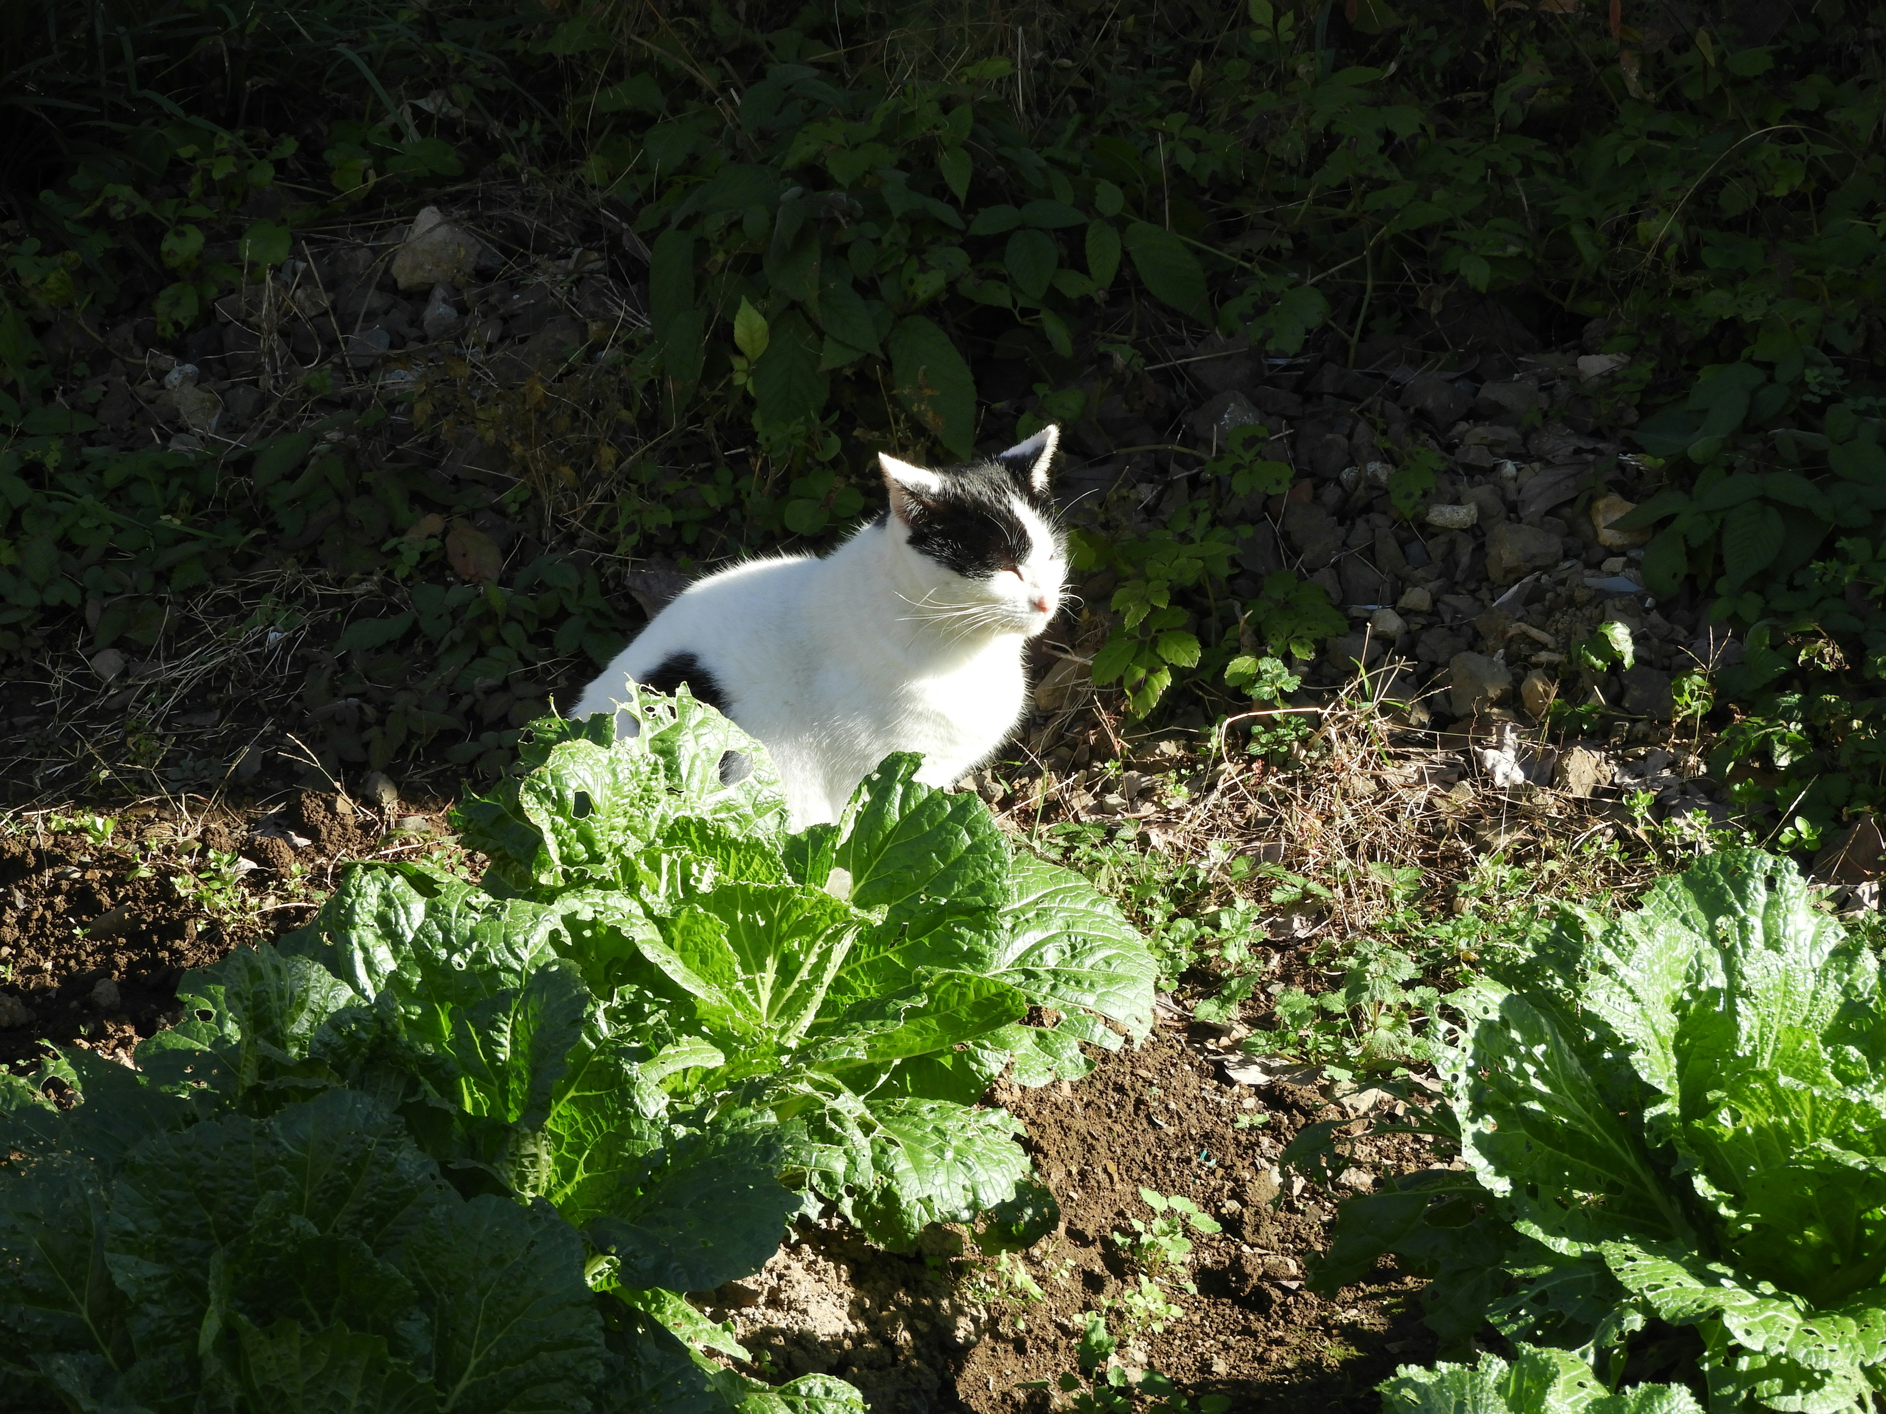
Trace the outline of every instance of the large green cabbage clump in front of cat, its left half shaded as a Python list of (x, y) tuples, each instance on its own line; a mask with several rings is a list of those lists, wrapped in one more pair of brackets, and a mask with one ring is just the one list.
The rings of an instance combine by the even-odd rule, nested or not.
[(975, 1101), (1145, 1035), (1118, 911), (915, 758), (788, 833), (713, 709), (628, 711), (619, 743), (538, 722), (528, 773), (462, 807), (481, 884), (356, 865), (309, 928), (189, 975), (136, 1071), (0, 1080), (23, 1408), (835, 1414), (839, 1380), (709, 1361), (745, 1352), (677, 1293), (758, 1271), (800, 1212), (896, 1248), (1052, 1225)]

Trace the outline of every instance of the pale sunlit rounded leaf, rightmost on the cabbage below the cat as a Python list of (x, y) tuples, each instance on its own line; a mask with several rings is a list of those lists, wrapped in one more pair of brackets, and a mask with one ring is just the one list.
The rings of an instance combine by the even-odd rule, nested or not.
[(1066, 1012), (1071, 1035), (1117, 1048), (1120, 1037), (1092, 1026), (1094, 1012), (1135, 1041), (1152, 1029), (1152, 986), (1158, 967), (1145, 939), (1081, 875), (1032, 854), (1009, 862), (1009, 897), (1001, 911), (1005, 937), (990, 975), (1011, 982), (1030, 1001)]

